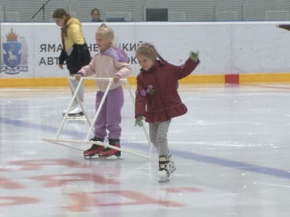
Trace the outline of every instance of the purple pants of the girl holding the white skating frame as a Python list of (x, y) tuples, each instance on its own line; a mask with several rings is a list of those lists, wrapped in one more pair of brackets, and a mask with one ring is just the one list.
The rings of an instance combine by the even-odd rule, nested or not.
[[(101, 103), (101, 99), (104, 96), (104, 92), (97, 92), (96, 96), (96, 110)], [(124, 92), (123, 87), (117, 87), (114, 90), (110, 90), (104, 101), (103, 106), (95, 122), (95, 136), (99, 138), (105, 138), (107, 136), (106, 130), (108, 130), (108, 137), (119, 139), (121, 137), (121, 121), (122, 121), (122, 107), (124, 104)]]

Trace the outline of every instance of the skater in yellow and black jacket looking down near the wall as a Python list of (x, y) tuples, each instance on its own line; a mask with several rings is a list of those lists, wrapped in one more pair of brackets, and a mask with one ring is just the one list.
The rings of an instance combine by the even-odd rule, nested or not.
[[(70, 17), (70, 14), (62, 8), (58, 8), (53, 12), (52, 18), (55, 23), (61, 27), (61, 42), (62, 50), (59, 56), (59, 68), (64, 69), (64, 62), (70, 71), (70, 76), (74, 76), (84, 65), (90, 63), (90, 52), (84, 34), (81, 29), (81, 22), (75, 17)], [(79, 81), (73, 81), (75, 88)], [(72, 90), (72, 94), (73, 94)], [(84, 87), (79, 90), (79, 99), (84, 101)], [(66, 110), (62, 113), (66, 114)], [(69, 116), (83, 115), (81, 107), (75, 100)]]

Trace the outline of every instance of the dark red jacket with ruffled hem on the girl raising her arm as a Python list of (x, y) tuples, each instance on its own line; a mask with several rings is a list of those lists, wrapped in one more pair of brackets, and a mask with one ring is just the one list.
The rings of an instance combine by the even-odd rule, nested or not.
[[(157, 60), (150, 70), (141, 69), (137, 76), (135, 117), (144, 115), (147, 122), (161, 122), (185, 114), (187, 108), (177, 92), (177, 81), (191, 74), (198, 63), (188, 59), (176, 66)], [(152, 95), (150, 87), (155, 90)]]

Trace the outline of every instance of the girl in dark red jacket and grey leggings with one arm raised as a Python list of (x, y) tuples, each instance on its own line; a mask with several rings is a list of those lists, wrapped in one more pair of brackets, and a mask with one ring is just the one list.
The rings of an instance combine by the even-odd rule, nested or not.
[(151, 143), (159, 154), (158, 176), (160, 182), (167, 181), (176, 169), (168, 150), (168, 127), (171, 118), (187, 112), (177, 92), (177, 82), (191, 74), (200, 60), (197, 53), (191, 52), (183, 65), (171, 65), (149, 43), (139, 45), (136, 57), (141, 72), (137, 76), (135, 125), (142, 126), (146, 118)]

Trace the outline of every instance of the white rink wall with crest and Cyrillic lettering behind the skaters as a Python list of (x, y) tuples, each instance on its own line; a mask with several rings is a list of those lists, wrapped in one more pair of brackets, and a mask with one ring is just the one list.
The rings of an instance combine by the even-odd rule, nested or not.
[[(281, 23), (281, 22), (280, 22)], [(283, 23), (283, 22), (282, 22)], [(84, 23), (91, 53), (97, 52), (95, 31), (101, 23)], [(116, 43), (131, 59), (138, 74), (137, 45), (153, 43), (167, 61), (180, 65), (190, 50), (200, 52), (195, 74), (290, 72), (290, 32), (277, 22), (108, 23)], [(57, 67), (60, 30), (55, 23), (0, 23), (1, 78), (64, 77)], [(11, 30), (17, 41), (9, 41)], [(17, 43), (16, 47), (13, 46)], [(8, 52), (10, 52), (8, 54)], [(15, 60), (17, 59), (17, 60)], [(11, 61), (15, 61), (12, 63)]]

